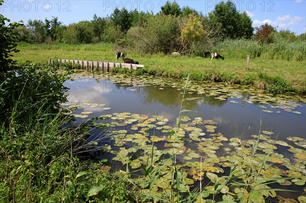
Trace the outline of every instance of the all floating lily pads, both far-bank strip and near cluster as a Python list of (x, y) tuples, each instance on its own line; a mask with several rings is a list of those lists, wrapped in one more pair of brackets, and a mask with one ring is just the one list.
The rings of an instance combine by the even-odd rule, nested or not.
[[(88, 72), (81, 74), (84, 75), (78, 73), (75, 77), (94, 77), (133, 86), (157, 85), (158, 88), (171, 86), (176, 89), (182, 89), (184, 86), (184, 81), (175, 80), (174, 82), (157, 77), (136, 78), (91, 72), (89, 73), (92, 74), (91, 76), (88, 75)], [(247, 86), (206, 82), (203, 84), (192, 82), (188, 91), (219, 100), (229, 100), (233, 105), (242, 102), (258, 103), (259, 107), (268, 113), (281, 112), (279, 109), (283, 109), (300, 114), (301, 112), (295, 111), (295, 108), (301, 106), (298, 102), (306, 101), (305, 97), (297, 95), (272, 96)], [(244, 94), (245, 92), (247, 94)], [(103, 104), (91, 104), (88, 101), (82, 104), (70, 102), (64, 105), (72, 108), (104, 106)], [(90, 113), (91, 111), (83, 111), (74, 116), (85, 118)], [(265, 197), (277, 197), (277, 195), (275, 191), (269, 190), (268, 184), (258, 183), (277, 180), (276, 183), (282, 186), (293, 184), (304, 186), (306, 182), (306, 140), (302, 137), (290, 136), (287, 138), (288, 142), (285, 142), (271, 139), (270, 136), (274, 132), (263, 131), (262, 134), (252, 135), (247, 140), (228, 139), (218, 132), (217, 122), (186, 115), (181, 117), (180, 127), (176, 127), (162, 115), (149, 117), (145, 114), (115, 112), (103, 114), (100, 117), (108, 118), (103, 122), (108, 124), (109, 131), (112, 132), (110, 136), (113, 147), (110, 152), (114, 156), (113, 160), (129, 166), (130, 172), (138, 173), (139, 177), (134, 179), (135, 184), (145, 190), (148, 190), (147, 187), (151, 185), (150, 193), (156, 198), (169, 194), (171, 185), (175, 182), (171, 157), (175, 157), (175, 168), (180, 171), (180, 181), (184, 183), (180, 185), (182, 187), (180, 191), (187, 192), (192, 190), (194, 185), (205, 182), (207, 186), (202, 189), (202, 198), (220, 192), (224, 199), (243, 196), (262, 202), (260, 200)], [(152, 177), (159, 177), (153, 182), (149, 176), (144, 176), (140, 172), (143, 168), (148, 167), (153, 168), (150, 170)], [(222, 185), (226, 181), (222, 176), (228, 175), (224, 172), (228, 169), (232, 171), (232, 176), (248, 185), (247, 190), (243, 187), (230, 187), (230, 184)], [(250, 171), (256, 175), (256, 180), (253, 175), (250, 175)], [(249, 193), (249, 189), (252, 189), (253, 192)], [(298, 199), (301, 202), (305, 200), (302, 196)]]

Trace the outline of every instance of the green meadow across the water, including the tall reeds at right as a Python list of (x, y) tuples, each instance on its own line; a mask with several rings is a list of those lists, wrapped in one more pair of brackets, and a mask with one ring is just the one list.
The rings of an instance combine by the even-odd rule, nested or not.
[[(137, 50), (123, 51), (144, 65), (144, 74), (186, 78), (189, 69), (194, 80), (220, 81), (254, 85), (271, 93), (294, 91), (306, 92), (306, 52), (304, 42), (288, 43), (286, 48), (276, 44), (259, 47), (245, 40), (222, 42), (211, 48), (225, 57), (222, 60), (204, 59), (197, 54), (172, 56), (143, 54)], [(120, 51), (113, 44), (24, 44), (17, 47), (18, 62), (32, 61), (45, 64), (48, 59), (115, 62), (115, 53)], [(283, 52), (281, 52), (283, 50)], [(246, 70), (246, 55), (250, 55), (249, 70)], [(287, 56), (290, 56), (289, 58)], [(118, 62), (122, 60), (119, 59)]]

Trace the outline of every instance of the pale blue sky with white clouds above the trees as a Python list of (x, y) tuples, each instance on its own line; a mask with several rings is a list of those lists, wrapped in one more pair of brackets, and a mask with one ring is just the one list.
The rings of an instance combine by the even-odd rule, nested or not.
[[(5, 0), (0, 6), (0, 13), (11, 21), (22, 20), (27, 24), (29, 19), (45, 18), (52, 19), (58, 17), (61, 22), (68, 25), (82, 20), (92, 20), (93, 14), (106, 17), (110, 15), (116, 7), (127, 10), (137, 9), (138, 11), (148, 11), (154, 14), (160, 11), (161, 6), (166, 1), (16, 1)], [(170, 1), (173, 2), (173, 1)], [(176, 2), (183, 8), (189, 6), (203, 14), (208, 14), (220, 1), (182, 1)], [(226, 1), (224, 1), (226, 2)], [(246, 11), (253, 20), (253, 26), (260, 26), (268, 22), (272, 26), (278, 26), (277, 30), (287, 30), (300, 35), (306, 31), (306, 0), (278, 0), (278, 1), (233, 1), (237, 10)]]

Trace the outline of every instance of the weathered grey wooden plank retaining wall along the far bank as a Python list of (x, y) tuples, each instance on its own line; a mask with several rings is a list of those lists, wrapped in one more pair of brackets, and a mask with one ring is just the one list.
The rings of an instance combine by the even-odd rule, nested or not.
[[(114, 62), (94, 62), (94, 61), (80, 61), (80, 60), (66, 60), (66, 59), (58, 59), (59, 62), (62, 63), (72, 63), (72, 67), (77, 64), (77, 67), (81, 67), (81, 69), (86, 70), (96, 70), (96, 71), (107, 71), (110, 72), (111, 68), (129, 68), (129, 69), (138, 69), (143, 68), (144, 65), (140, 64), (125, 64), (125, 63), (114, 63)], [(49, 64), (52, 64), (52, 59), (49, 59)]]

